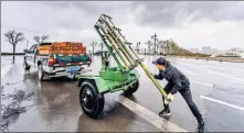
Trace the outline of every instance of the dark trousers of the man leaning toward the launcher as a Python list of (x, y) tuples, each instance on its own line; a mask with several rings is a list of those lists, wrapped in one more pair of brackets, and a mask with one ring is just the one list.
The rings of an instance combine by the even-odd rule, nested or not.
[[(190, 85), (189, 85), (190, 86)], [(198, 122), (203, 122), (203, 118), (202, 114), (200, 113), (198, 107), (195, 106), (193, 99), (192, 99), (192, 95), (191, 95), (191, 90), (190, 87), (183, 87), (182, 89), (179, 90), (180, 95), (183, 97), (183, 99), (185, 100), (185, 102), (188, 103), (191, 112), (193, 113), (193, 115), (197, 118)], [(168, 82), (165, 87), (165, 91), (166, 93), (169, 93), (172, 89), (173, 85)], [(162, 101), (163, 101), (163, 107), (165, 109), (169, 109), (169, 104), (165, 103), (165, 98), (162, 97)]]

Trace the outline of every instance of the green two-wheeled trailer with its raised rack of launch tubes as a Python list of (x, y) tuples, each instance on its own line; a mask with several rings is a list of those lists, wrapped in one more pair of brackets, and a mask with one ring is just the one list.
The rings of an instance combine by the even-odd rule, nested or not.
[[(142, 67), (158, 90), (167, 98), (160, 84), (147, 69), (144, 60), (132, 49), (116, 27), (112, 18), (102, 14), (94, 25), (99, 37), (106, 45), (108, 53), (102, 53), (102, 69), (98, 76), (83, 75), (79, 77), (79, 102), (84, 112), (92, 119), (96, 119), (104, 109), (104, 95), (123, 90), (125, 96), (131, 96), (139, 88), (139, 74), (135, 69), (138, 65)], [(117, 67), (109, 65), (109, 57), (117, 63)], [(167, 99), (170, 101), (170, 99)]]

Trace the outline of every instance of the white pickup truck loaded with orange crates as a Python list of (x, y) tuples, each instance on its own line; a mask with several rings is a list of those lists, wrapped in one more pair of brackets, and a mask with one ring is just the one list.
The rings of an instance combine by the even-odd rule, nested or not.
[[(91, 71), (92, 57), (86, 47), (78, 42), (54, 42), (34, 44), (24, 49), (24, 70), (38, 68), (38, 80), (67, 76), (75, 79), (77, 75)], [(85, 68), (86, 67), (86, 68)]]

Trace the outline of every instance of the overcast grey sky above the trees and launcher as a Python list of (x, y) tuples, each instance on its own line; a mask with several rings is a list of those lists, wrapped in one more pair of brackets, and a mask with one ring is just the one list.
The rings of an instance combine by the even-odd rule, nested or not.
[[(88, 46), (100, 41), (94, 24), (102, 13), (113, 18), (127, 40), (145, 43), (155, 33), (173, 38), (185, 48), (212, 46), (244, 48), (244, 2), (224, 1), (1, 1), (1, 52), (12, 52), (3, 33), (15, 29), (32, 36), (47, 34), (49, 41), (78, 41)], [(26, 42), (18, 44), (18, 52)]]

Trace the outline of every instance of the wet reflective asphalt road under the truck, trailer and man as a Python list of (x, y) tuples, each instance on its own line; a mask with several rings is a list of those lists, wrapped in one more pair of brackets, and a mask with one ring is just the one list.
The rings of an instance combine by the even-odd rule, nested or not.
[[(157, 57), (144, 58), (150, 71), (158, 73), (151, 65), (151, 60)], [(169, 59), (189, 77), (193, 99), (205, 119), (206, 131), (244, 131), (244, 110), (242, 110), (244, 64), (187, 58)], [(97, 74), (98, 66), (100, 66), (99, 57), (95, 57), (91, 74)], [(137, 69), (140, 73), (140, 87), (129, 99), (158, 114), (163, 108), (161, 96), (144, 70), (140, 67)], [(7, 85), (8, 82), (10, 85)], [(167, 84), (165, 80), (160, 82), (162, 86)], [(31, 108), (8, 126), (12, 132), (161, 132), (147, 120), (118, 103), (115, 98), (120, 97), (120, 91), (105, 95), (106, 104), (100, 120), (89, 119), (79, 106), (77, 80), (56, 78), (39, 82), (34, 70), (23, 74), (21, 62), (1, 78), (1, 86), (3, 86), (3, 93), (12, 93), (14, 88), (34, 92), (31, 100), (21, 103)], [(9, 102), (8, 99), (2, 100), (2, 104)], [(170, 122), (187, 131), (195, 131), (197, 121), (179, 93), (171, 103), (171, 111)]]

